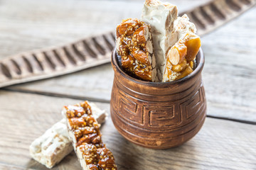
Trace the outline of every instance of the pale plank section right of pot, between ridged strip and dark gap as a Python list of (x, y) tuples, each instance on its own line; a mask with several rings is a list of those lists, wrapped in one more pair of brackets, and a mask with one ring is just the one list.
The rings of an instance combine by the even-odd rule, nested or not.
[[(203, 38), (208, 113), (255, 121), (256, 8)], [(246, 26), (248, 24), (248, 26)], [(239, 118), (240, 119), (240, 118)]]

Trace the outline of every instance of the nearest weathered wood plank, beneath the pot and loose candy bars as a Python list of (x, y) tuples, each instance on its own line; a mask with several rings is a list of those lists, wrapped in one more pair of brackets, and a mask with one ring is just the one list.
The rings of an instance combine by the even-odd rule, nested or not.
[[(80, 101), (70, 98), (0, 91), (0, 168), (46, 169), (28, 153), (36, 137), (60, 120), (61, 107)], [(109, 111), (108, 103), (97, 105)], [(110, 118), (102, 125), (103, 141), (122, 169), (255, 169), (255, 125), (206, 118), (201, 131), (181, 147), (146, 149), (119, 135)], [(54, 169), (80, 169), (75, 154)]]

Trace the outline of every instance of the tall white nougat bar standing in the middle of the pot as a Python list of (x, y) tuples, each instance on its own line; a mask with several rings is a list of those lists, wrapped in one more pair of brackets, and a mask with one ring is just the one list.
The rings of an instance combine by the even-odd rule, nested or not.
[(158, 81), (162, 79), (166, 52), (178, 40), (172, 33), (177, 16), (175, 5), (158, 0), (146, 0), (142, 8), (142, 21), (149, 23), (152, 30)]

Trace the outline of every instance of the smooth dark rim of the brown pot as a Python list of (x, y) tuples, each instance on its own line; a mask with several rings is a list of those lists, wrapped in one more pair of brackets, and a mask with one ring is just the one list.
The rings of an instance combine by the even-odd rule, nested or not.
[(181, 84), (184, 81), (188, 81), (189, 79), (192, 79), (193, 77), (196, 77), (196, 75), (200, 74), (200, 72), (203, 69), (205, 58), (203, 55), (203, 50), (200, 47), (198, 54), (196, 55), (196, 69), (191, 73), (188, 74), (186, 77), (183, 77), (181, 79), (175, 80), (175, 81), (168, 81), (168, 82), (151, 82), (151, 81), (143, 81), (140, 79), (136, 79), (134, 77), (129, 76), (126, 74), (122, 69), (119, 67), (119, 64), (117, 63), (117, 50), (116, 47), (114, 47), (114, 50), (112, 51), (112, 57), (111, 57), (112, 66), (117, 69), (117, 72), (122, 75), (125, 79), (128, 79), (129, 81), (133, 81), (136, 84), (141, 84), (145, 86), (168, 86), (168, 85), (175, 85), (175, 84)]

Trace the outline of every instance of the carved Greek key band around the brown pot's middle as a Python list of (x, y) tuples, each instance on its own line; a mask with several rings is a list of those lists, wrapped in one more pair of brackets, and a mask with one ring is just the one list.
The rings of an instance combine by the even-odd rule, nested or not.
[[(119, 91), (118, 114), (131, 123), (146, 125), (151, 128), (164, 128), (180, 125), (189, 120), (203, 108), (203, 86), (187, 101), (180, 103), (166, 102), (157, 105), (145, 105), (145, 101)], [(178, 114), (181, 112), (181, 114)]]

